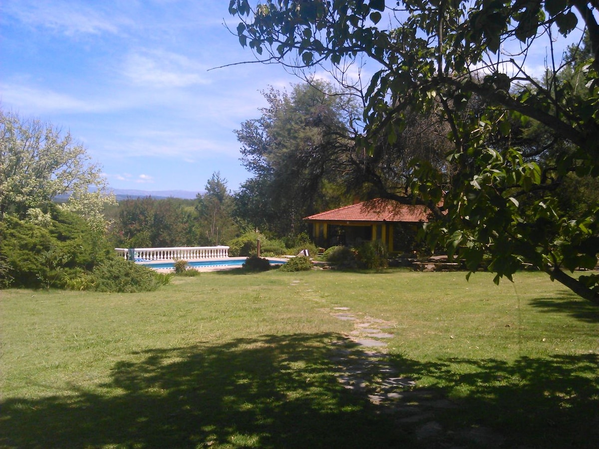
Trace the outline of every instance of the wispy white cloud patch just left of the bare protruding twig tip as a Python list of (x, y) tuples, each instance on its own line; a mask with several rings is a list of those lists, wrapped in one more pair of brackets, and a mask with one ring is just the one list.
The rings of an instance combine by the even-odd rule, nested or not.
[(141, 50), (125, 59), (123, 73), (131, 83), (150, 87), (187, 87), (208, 84), (206, 69), (186, 56), (159, 50)]

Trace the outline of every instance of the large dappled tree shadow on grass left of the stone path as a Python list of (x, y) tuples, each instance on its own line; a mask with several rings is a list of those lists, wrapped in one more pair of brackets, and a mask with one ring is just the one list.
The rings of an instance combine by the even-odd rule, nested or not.
[(389, 448), (392, 417), (337, 382), (332, 335), (129, 354), (107, 384), (0, 406), (0, 447)]

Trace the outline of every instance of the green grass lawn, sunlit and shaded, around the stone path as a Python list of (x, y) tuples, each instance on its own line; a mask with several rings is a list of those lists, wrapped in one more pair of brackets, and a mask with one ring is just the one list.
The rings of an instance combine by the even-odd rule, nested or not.
[[(544, 274), (491, 279), (232, 271), (152, 293), (0, 290), (0, 447), (488, 447), (461, 438), (476, 429), (504, 447), (599, 447), (599, 308)], [(335, 342), (369, 320), (390, 326), (379, 351), (397, 377), (451, 407), (410, 422), (337, 380)]]

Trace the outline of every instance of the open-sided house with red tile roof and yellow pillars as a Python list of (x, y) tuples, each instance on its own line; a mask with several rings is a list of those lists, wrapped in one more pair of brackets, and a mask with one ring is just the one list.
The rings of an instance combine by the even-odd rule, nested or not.
[(355, 245), (380, 240), (389, 253), (412, 251), (418, 229), (428, 222), (430, 211), (422, 205), (373, 199), (305, 217), (316, 245)]

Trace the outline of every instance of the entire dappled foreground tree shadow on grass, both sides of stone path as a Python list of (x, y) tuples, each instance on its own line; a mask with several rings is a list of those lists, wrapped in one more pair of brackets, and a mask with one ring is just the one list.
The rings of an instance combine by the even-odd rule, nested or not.
[(381, 413), (338, 383), (330, 342), (339, 338), (267, 335), (128, 354), (106, 384), (5, 399), (0, 447), (489, 447), (462, 438), (477, 426), (505, 435), (504, 447), (599, 441), (596, 354), (513, 363), (390, 356), (402, 374), (434, 378), (433, 389), (457, 405), (434, 409), (428, 420), (442, 423), (443, 433), (418, 441), (423, 423), (401, 424), (398, 412)]

